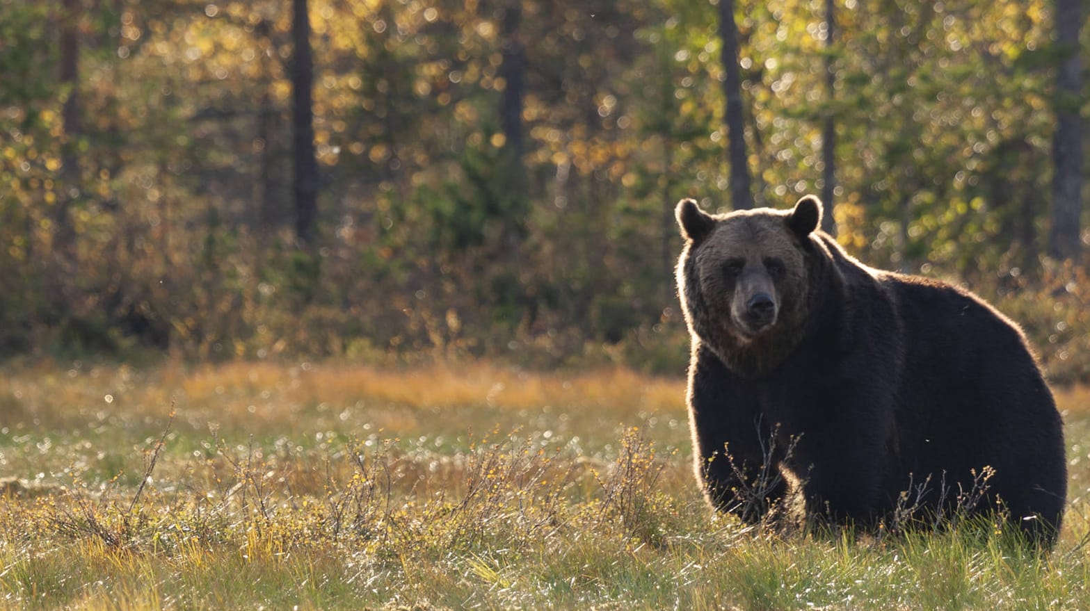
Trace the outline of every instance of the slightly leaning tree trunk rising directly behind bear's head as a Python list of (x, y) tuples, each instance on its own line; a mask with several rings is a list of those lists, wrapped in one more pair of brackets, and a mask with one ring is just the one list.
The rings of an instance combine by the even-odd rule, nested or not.
[(742, 118), (742, 82), (738, 66), (738, 26), (735, 24), (735, 0), (719, 0), (719, 36), (723, 48), (719, 59), (726, 71), (723, 93), (726, 96), (727, 150), (730, 162), (730, 205), (736, 210), (753, 207), (750, 174), (746, 155), (746, 129)]

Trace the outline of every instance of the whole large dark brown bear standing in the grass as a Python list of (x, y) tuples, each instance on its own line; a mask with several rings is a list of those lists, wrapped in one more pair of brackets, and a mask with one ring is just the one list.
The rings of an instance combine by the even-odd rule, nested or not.
[(998, 508), (1052, 543), (1063, 423), (1017, 326), (967, 291), (848, 256), (818, 230), (813, 196), (727, 215), (685, 199), (677, 220), (689, 416), (713, 505), (756, 522), (790, 493), (809, 518), (869, 528), (906, 505)]

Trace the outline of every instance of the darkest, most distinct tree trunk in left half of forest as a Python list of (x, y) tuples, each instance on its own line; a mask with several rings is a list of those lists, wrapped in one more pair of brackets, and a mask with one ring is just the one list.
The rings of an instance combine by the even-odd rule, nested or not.
[(317, 217), (318, 164), (314, 157), (314, 109), (312, 87), (314, 61), (311, 57), (311, 21), (306, 0), (292, 0), (291, 39), (294, 45), (291, 62), (292, 136), (294, 146), (295, 236), (300, 246), (308, 247), (314, 240)]

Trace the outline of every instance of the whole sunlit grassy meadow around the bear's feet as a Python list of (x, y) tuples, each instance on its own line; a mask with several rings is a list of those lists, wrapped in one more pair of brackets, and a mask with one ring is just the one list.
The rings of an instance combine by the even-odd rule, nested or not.
[(1087, 609), (1090, 390), (1056, 550), (713, 516), (683, 381), (487, 364), (9, 367), (0, 608)]

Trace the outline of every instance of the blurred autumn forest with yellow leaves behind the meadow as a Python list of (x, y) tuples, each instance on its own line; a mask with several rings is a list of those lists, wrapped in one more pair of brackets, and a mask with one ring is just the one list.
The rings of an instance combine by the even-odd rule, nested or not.
[(0, 353), (679, 372), (674, 204), (820, 193), (862, 260), (964, 279), (1055, 379), (1086, 378), (1086, 20), (1071, 0), (0, 0)]

